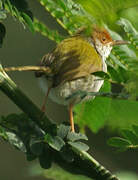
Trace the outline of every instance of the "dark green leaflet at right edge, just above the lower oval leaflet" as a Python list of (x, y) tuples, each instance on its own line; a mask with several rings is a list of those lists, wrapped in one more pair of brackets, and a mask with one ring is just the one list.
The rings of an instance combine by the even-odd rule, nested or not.
[(133, 145), (138, 144), (138, 137), (129, 129), (122, 129), (121, 134), (127, 140), (129, 140)]

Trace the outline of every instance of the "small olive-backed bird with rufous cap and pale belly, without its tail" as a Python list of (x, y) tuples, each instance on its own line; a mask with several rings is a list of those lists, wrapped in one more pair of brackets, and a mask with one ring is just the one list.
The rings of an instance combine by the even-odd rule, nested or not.
[(39, 66), (48, 67), (51, 70), (49, 74), (43, 71), (35, 72), (46, 92), (45, 101), (49, 97), (57, 104), (68, 107), (72, 132), (75, 132), (74, 105), (94, 98), (89, 95), (81, 98), (77, 92), (99, 92), (104, 80), (93, 73), (106, 73), (106, 59), (113, 46), (127, 44), (124, 40), (113, 40), (103, 27), (93, 27), (89, 35), (83, 32), (84, 30), (80, 30), (62, 40), (53, 51), (42, 57)]

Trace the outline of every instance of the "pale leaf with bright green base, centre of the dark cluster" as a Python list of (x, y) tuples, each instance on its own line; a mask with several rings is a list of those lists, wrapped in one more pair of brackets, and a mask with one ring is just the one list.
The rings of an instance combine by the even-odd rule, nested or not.
[(53, 149), (60, 151), (61, 148), (65, 145), (65, 142), (59, 136), (50, 136), (47, 134), (45, 136), (45, 141), (51, 146)]

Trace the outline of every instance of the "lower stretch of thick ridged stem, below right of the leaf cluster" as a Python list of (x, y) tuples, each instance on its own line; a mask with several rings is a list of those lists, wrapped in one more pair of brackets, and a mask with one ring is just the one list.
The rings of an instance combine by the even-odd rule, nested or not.
[(115, 175), (97, 162), (90, 154), (78, 149), (72, 149), (75, 153), (73, 162), (65, 163), (57, 156), (56, 163), (71, 173), (82, 174), (95, 180), (119, 180)]

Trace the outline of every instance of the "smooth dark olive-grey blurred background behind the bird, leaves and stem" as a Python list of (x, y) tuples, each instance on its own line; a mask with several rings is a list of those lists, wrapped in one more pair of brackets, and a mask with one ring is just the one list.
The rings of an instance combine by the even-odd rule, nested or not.
[[(58, 28), (62, 34), (66, 34), (37, 1), (30, 0), (29, 4), (36, 17), (46, 22), (49, 27), (54, 29)], [(125, 14), (128, 16), (128, 13)], [(130, 12), (130, 14), (132, 14), (132, 12)], [(44, 54), (55, 47), (54, 42), (38, 33), (32, 34), (29, 30), (24, 29), (23, 26), (12, 17), (8, 17), (4, 21), (4, 25), (6, 26), (7, 33), (3, 47), (0, 49), (0, 61), (4, 67), (36, 65)], [(24, 93), (29, 96), (37, 106), (41, 107), (44, 94), (34, 74), (31, 72), (12, 72), (9, 73), (9, 75)], [(21, 112), (2, 92), (0, 92), (0, 98), (1, 115)], [(64, 106), (54, 104), (48, 100), (46, 113), (50, 119), (55, 120), (53, 110), (56, 112), (58, 119), (67, 120), (67, 109)], [(87, 135), (93, 157), (106, 168), (110, 169), (112, 172), (133, 171), (138, 173), (136, 160), (138, 152), (136, 150), (134, 150), (134, 152), (129, 150), (123, 153), (116, 153), (115, 150), (106, 145), (106, 141), (109, 138), (107, 129), (100, 130), (98, 134), (92, 134), (87, 130)], [(0, 152), (1, 180), (44, 179), (43, 177), (30, 177), (28, 168), (35, 162), (27, 162), (25, 155), (9, 144), (0, 141)]]

